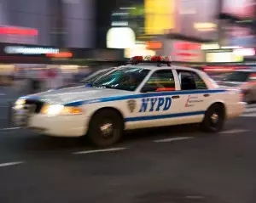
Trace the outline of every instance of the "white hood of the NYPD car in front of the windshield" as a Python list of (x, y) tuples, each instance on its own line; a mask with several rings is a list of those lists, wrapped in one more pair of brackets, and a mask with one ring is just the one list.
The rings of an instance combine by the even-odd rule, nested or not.
[(79, 86), (54, 89), (44, 93), (36, 93), (27, 96), (26, 99), (40, 99), (49, 103), (67, 104), (76, 101), (101, 99), (131, 94), (131, 92), (125, 90)]

